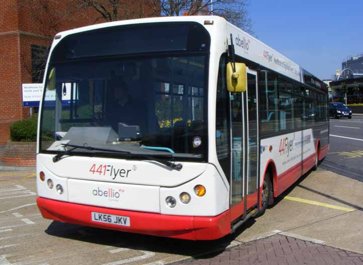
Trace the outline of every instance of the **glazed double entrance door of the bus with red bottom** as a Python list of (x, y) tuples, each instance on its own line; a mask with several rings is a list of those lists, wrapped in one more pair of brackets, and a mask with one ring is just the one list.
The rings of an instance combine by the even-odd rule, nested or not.
[(247, 68), (247, 90), (231, 93), (231, 220), (244, 217), (257, 204), (257, 75)]

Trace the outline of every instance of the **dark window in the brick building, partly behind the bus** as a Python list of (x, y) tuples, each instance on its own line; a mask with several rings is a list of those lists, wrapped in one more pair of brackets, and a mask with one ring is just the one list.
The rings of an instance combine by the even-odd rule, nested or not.
[(34, 45), (32, 49), (32, 82), (42, 83), (45, 65), (49, 54), (49, 47)]

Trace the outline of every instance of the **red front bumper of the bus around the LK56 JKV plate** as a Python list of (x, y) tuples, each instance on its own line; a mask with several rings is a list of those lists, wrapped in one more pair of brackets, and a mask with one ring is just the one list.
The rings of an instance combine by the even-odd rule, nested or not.
[[(98, 228), (189, 240), (213, 240), (230, 233), (230, 213), (214, 217), (134, 212), (37, 198), (47, 219)], [(130, 226), (92, 221), (92, 212), (130, 217)]]

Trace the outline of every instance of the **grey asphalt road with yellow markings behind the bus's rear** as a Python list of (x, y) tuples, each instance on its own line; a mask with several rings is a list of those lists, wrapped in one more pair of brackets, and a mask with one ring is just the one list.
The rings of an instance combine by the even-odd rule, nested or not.
[(363, 182), (363, 116), (330, 119), (329, 153), (321, 166)]

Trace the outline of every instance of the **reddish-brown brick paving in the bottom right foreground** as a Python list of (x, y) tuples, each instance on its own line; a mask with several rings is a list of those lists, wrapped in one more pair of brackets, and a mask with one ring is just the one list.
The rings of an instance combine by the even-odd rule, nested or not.
[[(361, 242), (357, 242), (361, 243)], [(208, 254), (173, 263), (186, 265), (363, 265), (363, 254), (274, 235), (231, 247), (222, 253)]]

